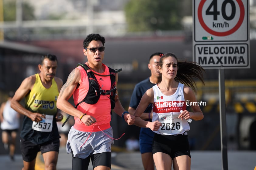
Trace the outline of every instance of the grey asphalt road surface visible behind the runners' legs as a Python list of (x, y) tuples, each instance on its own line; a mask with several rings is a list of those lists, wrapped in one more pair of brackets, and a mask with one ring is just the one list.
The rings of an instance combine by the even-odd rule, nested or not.
[[(220, 151), (191, 151), (191, 157), (191, 170), (223, 170)], [(8, 155), (0, 155), (0, 166), (0, 169), (21, 170), (22, 156), (15, 155), (15, 161), (11, 161)], [(228, 151), (229, 170), (254, 170), (255, 166), (256, 151)], [(57, 170), (71, 170), (71, 167), (71, 155), (66, 153), (65, 148), (60, 148)], [(40, 154), (36, 170), (44, 170)], [(88, 170), (93, 170), (91, 164)], [(143, 170), (140, 152), (112, 152), (112, 170)]]

